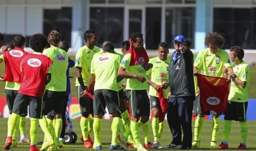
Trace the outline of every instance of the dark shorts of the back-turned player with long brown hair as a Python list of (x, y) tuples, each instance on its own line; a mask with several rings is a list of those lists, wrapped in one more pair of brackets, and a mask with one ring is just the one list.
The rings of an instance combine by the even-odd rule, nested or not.
[(66, 98), (66, 91), (45, 91), (43, 95), (43, 115), (47, 115), (53, 111), (53, 114), (62, 114), (64, 109), (64, 101)]

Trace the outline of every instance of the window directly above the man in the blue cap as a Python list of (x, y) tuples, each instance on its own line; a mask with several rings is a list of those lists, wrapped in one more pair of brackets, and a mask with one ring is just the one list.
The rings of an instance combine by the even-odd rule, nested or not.
[(172, 40), (177, 35), (183, 35), (194, 48), (195, 8), (166, 8), (165, 40), (173, 48)]

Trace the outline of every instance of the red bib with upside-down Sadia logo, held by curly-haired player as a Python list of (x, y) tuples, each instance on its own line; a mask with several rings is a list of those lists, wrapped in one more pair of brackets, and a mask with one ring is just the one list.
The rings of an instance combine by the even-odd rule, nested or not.
[(197, 74), (197, 80), (200, 89), (200, 104), (203, 112), (225, 112), (229, 94), (227, 79)]

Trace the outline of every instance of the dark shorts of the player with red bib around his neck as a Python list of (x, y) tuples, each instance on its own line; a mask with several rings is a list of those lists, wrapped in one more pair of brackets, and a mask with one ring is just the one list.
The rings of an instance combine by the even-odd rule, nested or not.
[(146, 90), (126, 90), (126, 97), (133, 117), (150, 115), (150, 101)]

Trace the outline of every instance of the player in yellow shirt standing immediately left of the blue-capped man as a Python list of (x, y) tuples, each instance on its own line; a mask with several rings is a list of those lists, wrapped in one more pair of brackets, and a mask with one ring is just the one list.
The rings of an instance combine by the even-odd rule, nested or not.
[[(149, 63), (152, 63), (153, 68), (149, 69), (146, 73), (148, 74), (148, 84), (149, 86), (149, 96), (150, 96), (150, 106), (151, 113), (153, 114), (152, 118), (152, 131), (154, 135), (154, 144), (153, 148), (162, 148), (159, 140), (161, 137), (162, 130), (164, 128), (164, 122), (159, 123), (159, 86), (163, 82), (168, 82), (168, 70), (167, 68), (170, 65), (170, 59), (167, 58), (169, 53), (168, 44), (165, 42), (159, 43), (157, 49), (158, 56), (153, 57), (149, 60)], [(168, 85), (164, 86), (163, 96), (167, 100), (168, 96)]]

